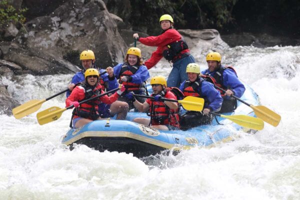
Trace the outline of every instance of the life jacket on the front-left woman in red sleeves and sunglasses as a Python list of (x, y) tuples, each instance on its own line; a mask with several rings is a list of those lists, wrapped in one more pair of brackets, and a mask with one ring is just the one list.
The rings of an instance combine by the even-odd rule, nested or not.
[[(84, 88), (84, 98), (82, 100), (86, 100), (93, 96), (101, 94), (102, 86), (100, 84), (96, 84), (96, 86), (94, 88), (92, 88), (91, 86), (89, 86), (85, 83), (81, 83), (79, 86)], [(100, 99), (96, 98), (96, 99), (81, 103), (79, 107), (77, 107), (73, 110), (72, 114), (74, 117), (80, 116), (83, 118), (95, 120), (99, 117), (98, 104), (100, 104), (100, 102), (101, 102)]]

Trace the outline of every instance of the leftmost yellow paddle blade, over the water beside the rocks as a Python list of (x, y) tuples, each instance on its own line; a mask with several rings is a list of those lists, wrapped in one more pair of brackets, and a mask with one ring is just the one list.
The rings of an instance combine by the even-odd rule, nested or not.
[(37, 111), (40, 106), (41, 103), (45, 102), (46, 99), (43, 100), (37, 100), (37, 99), (33, 99), (33, 100), (29, 100), (15, 108), (12, 109), (12, 114), (16, 119), (22, 118), (28, 114), (31, 114), (35, 111)]

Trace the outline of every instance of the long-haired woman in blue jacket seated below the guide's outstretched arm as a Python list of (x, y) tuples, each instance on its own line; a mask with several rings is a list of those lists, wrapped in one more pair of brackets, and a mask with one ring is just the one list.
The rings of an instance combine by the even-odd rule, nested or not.
[[(119, 79), (119, 84), (125, 86), (125, 91), (118, 98), (125, 101), (129, 105), (129, 110), (134, 108), (132, 103), (132, 95), (129, 92), (144, 95), (146, 92), (145, 81), (150, 77), (148, 69), (142, 64), (141, 51), (139, 48), (131, 47), (127, 50), (125, 62), (119, 63), (113, 67), (113, 78)], [(143, 98), (138, 98), (144, 102)]]

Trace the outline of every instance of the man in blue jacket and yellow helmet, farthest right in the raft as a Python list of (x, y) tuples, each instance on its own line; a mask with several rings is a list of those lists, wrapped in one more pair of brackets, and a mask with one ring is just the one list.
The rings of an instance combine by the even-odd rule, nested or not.
[(206, 61), (208, 68), (202, 71), (202, 77), (226, 90), (225, 93), (220, 91), (223, 103), (219, 112), (234, 111), (237, 107), (237, 101), (230, 96), (233, 94), (240, 98), (245, 91), (245, 86), (238, 79), (236, 71), (232, 66), (221, 65), (221, 55), (218, 52), (208, 53)]

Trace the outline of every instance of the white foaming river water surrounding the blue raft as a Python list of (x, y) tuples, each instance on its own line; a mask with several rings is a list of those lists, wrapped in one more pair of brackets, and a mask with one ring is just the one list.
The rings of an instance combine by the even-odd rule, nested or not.
[[(224, 49), (224, 64), (259, 95), (261, 104), (281, 115), (277, 127), (265, 123), (256, 134), (216, 147), (193, 148), (138, 159), (132, 154), (98, 152), (61, 144), (71, 110), (39, 125), (36, 113), (21, 119), (0, 114), (0, 200), (4, 199), (300, 199), (300, 46)], [(193, 52), (193, 54), (196, 54)], [(204, 69), (205, 56), (195, 56)], [(150, 75), (167, 75), (161, 62)], [(2, 77), (24, 103), (66, 88), (70, 75)], [(64, 107), (64, 96), (39, 111)], [(147, 163), (147, 164), (145, 164)]]

